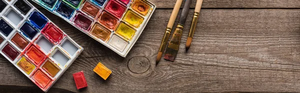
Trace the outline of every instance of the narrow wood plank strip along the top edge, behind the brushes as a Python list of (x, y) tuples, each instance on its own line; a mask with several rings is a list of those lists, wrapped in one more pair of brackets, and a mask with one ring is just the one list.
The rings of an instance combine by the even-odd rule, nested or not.
[[(173, 8), (176, 2), (176, 0), (149, 1), (154, 3), (157, 8)], [(300, 0), (203, 0), (202, 8), (300, 8), (298, 3)], [(196, 0), (192, 0), (190, 7), (194, 8), (195, 4)], [(37, 8), (41, 9), (42, 7), (37, 6)]]

